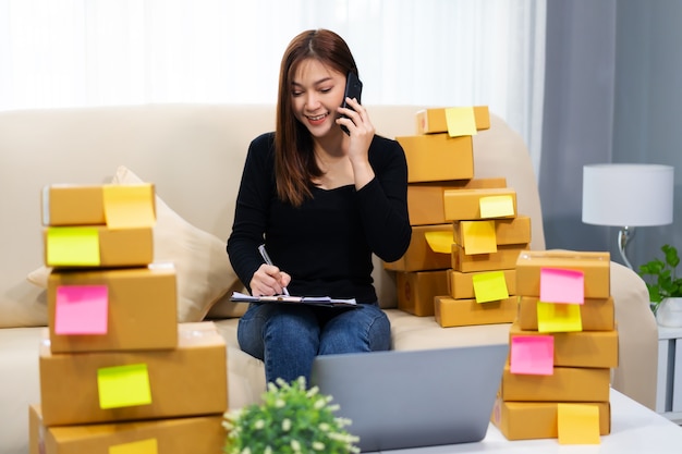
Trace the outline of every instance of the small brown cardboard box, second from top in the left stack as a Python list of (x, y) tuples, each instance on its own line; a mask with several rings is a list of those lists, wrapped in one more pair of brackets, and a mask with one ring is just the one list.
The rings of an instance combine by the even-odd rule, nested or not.
[[(71, 229), (73, 232), (97, 230), (99, 243), (99, 263), (76, 265), (71, 261), (50, 262), (48, 231), (50, 229)], [(93, 226), (52, 226), (45, 228), (42, 233), (45, 265), (54, 268), (113, 268), (144, 267), (154, 261), (153, 228), (109, 229), (106, 225)]]

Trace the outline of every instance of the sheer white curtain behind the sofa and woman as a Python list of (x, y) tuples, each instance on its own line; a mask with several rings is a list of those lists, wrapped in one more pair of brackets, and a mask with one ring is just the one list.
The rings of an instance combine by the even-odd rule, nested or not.
[(365, 103), (487, 105), (537, 170), (545, 3), (0, 0), (0, 110), (273, 103), (287, 44), (324, 27), (349, 42)]

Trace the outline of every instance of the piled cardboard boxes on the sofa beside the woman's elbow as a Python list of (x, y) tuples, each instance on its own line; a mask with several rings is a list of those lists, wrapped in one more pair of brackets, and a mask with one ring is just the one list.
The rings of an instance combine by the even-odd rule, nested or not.
[(490, 127), (487, 107), (426, 109), (417, 134), (397, 137), (407, 159), (413, 236), (397, 271), (398, 307), (441, 327), (511, 322), (516, 256), (531, 219), (516, 214), (504, 177), (475, 179), (473, 134)]

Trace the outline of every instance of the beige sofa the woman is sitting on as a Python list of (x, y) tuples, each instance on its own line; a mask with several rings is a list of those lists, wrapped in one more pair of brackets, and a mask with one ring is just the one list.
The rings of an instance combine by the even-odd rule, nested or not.
[[(380, 134), (414, 134), (418, 106), (368, 109)], [(0, 112), (0, 454), (27, 453), (28, 404), (40, 401), (38, 343), (47, 322), (40, 192), (48, 184), (155, 183), (155, 259), (176, 266), (180, 320), (202, 320), (212, 305), (208, 317), (228, 344), (230, 407), (258, 401), (265, 386), (263, 364), (236, 343), (234, 317), (243, 307), (220, 297), (240, 287), (224, 241), (245, 151), (252, 138), (272, 128), (273, 113), (272, 106), (210, 105)], [(474, 140), (475, 176), (507, 177), (517, 193), (519, 212), (532, 218), (532, 247), (543, 249), (527, 149), (499, 118), (491, 115), (491, 123)], [(393, 275), (379, 261), (375, 265), (394, 348), (507, 341), (507, 324), (443, 329), (433, 317), (395, 309)], [(620, 366), (612, 384), (654, 407), (657, 329), (646, 287), (635, 273), (612, 263), (611, 291), (620, 331)]]

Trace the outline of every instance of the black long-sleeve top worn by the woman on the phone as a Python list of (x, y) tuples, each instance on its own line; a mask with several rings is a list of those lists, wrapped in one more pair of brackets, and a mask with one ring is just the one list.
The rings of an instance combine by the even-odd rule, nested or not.
[(290, 294), (376, 302), (372, 254), (398, 260), (412, 235), (402, 147), (375, 136), (369, 183), (360, 191), (312, 186), (313, 198), (294, 207), (277, 197), (273, 138), (273, 133), (255, 138), (244, 164), (227, 247), (240, 280), (248, 289), (264, 262), (257, 247), (265, 241), (272, 262), (292, 277)]

